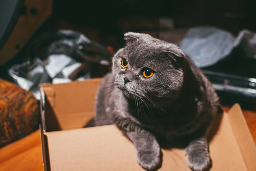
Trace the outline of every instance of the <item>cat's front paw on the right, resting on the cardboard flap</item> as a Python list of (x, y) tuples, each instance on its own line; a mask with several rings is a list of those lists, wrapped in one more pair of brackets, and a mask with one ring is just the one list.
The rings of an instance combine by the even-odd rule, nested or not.
[(206, 151), (194, 151), (186, 154), (189, 168), (193, 171), (204, 171), (210, 164), (209, 154)]

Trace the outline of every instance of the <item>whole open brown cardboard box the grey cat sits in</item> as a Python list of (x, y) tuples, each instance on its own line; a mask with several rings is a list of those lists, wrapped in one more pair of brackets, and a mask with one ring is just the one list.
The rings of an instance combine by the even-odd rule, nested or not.
[[(101, 81), (41, 85), (44, 171), (143, 171), (134, 145), (115, 125), (83, 128)], [(238, 104), (215, 118), (209, 150), (210, 171), (256, 171), (256, 147)], [(183, 149), (162, 151), (159, 171), (191, 171)]]

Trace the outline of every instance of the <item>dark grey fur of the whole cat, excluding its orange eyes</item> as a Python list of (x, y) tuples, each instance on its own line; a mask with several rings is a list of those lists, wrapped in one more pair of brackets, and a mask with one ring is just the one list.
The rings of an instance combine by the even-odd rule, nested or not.
[[(133, 32), (125, 40), (113, 57), (112, 72), (99, 86), (96, 126), (116, 124), (147, 170), (160, 164), (158, 138), (188, 136), (188, 165), (204, 170), (210, 162), (205, 136), (219, 105), (211, 83), (175, 44)], [(122, 58), (128, 60), (127, 68), (121, 66)], [(143, 67), (154, 75), (144, 78)]]

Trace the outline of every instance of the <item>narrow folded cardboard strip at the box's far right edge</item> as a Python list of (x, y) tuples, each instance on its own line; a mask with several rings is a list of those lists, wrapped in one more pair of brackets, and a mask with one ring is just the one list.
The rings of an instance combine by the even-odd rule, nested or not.
[(250, 130), (242, 115), (242, 110), (239, 104), (234, 104), (227, 112), (233, 134), (239, 146), (239, 150), (244, 159), (244, 163), (248, 171), (256, 170), (256, 145)]

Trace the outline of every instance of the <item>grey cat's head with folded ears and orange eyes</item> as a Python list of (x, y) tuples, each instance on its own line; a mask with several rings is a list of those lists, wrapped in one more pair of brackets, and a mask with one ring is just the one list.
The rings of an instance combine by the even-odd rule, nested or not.
[(148, 34), (125, 33), (113, 57), (115, 86), (128, 97), (172, 97), (183, 85), (184, 52)]

